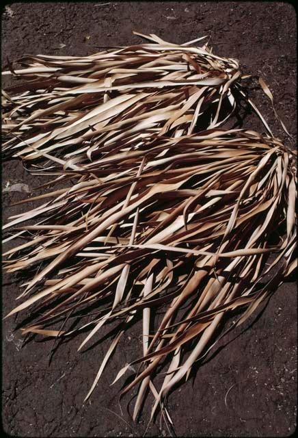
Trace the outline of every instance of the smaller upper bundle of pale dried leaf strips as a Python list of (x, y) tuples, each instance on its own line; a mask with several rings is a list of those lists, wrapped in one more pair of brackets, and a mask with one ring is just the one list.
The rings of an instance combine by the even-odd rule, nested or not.
[(25, 82), (3, 92), (3, 153), (76, 170), (152, 136), (215, 129), (245, 96), (236, 60), (207, 44), (189, 47), (202, 38), (178, 45), (143, 37), (150, 42), (10, 64), (3, 75)]

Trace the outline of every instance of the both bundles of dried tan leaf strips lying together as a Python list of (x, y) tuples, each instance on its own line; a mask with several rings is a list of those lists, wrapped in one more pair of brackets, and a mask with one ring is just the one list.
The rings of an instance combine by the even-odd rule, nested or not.
[(6, 240), (25, 239), (5, 269), (32, 276), (10, 315), (36, 315), (24, 335), (89, 331), (79, 348), (118, 322), (87, 397), (141, 315), (143, 351), (116, 377), (139, 363), (122, 391), (140, 383), (134, 417), (148, 390), (152, 415), (163, 406), (221, 322), (237, 310), (241, 324), (296, 266), (293, 153), (269, 134), (221, 127), (245, 98), (238, 63), (146, 38), (154, 44), (83, 58), (24, 57), (10, 73), (29, 80), (4, 92), (3, 114), (3, 151), (65, 182), (4, 227), (16, 229)]

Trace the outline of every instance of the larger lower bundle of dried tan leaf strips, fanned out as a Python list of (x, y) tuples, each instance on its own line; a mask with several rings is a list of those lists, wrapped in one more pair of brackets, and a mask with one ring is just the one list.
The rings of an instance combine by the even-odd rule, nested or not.
[[(63, 175), (76, 177), (74, 185), (37, 196), (49, 200), (5, 225), (17, 226), (8, 240), (27, 238), (5, 253), (5, 269), (35, 273), (9, 315), (36, 312), (24, 334), (89, 330), (79, 349), (120, 320), (86, 398), (140, 316), (143, 352), (116, 380), (139, 363), (122, 394), (140, 383), (133, 416), (147, 390), (153, 415), (215, 345), (223, 319), (241, 310), (234, 326), (241, 324), (295, 269), (295, 157), (271, 136), (212, 128), (124, 150), (117, 143), (88, 171), (69, 167)], [(35, 225), (23, 224), (31, 218)], [(165, 309), (159, 324), (157, 309)], [(70, 315), (79, 319), (75, 330)], [(153, 383), (167, 364), (163, 383)]]

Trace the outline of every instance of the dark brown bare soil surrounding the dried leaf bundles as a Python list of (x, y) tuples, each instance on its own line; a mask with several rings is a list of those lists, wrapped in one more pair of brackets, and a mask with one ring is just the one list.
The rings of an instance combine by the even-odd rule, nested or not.
[[(12, 3), (3, 12), (2, 29), (3, 62), (25, 53), (85, 55), (98, 51), (96, 46), (139, 42), (132, 35), (133, 30), (154, 33), (173, 42), (210, 35), (216, 53), (237, 58), (243, 70), (261, 75), (267, 81), (278, 112), (295, 138), (297, 34), (295, 10), (288, 3), (105, 0)], [(65, 47), (59, 49), (59, 44)], [(268, 99), (258, 91), (253, 93), (275, 135), (286, 140)], [(262, 129), (254, 116), (247, 118), (246, 126)], [(15, 161), (3, 165), (3, 185), (8, 180), (27, 183), (29, 188), (40, 183)], [(22, 205), (10, 205), (25, 196), (28, 195), (18, 192), (3, 194), (4, 221), (22, 211)], [(20, 292), (19, 283), (14, 280), (14, 276), (3, 278), (3, 315), (14, 307), (14, 298)], [(170, 396), (169, 409), (178, 436), (284, 437), (294, 432), (296, 300), (295, 283), (282, 285), (253, 326), (200, 368), (195, 379), (181, 385)], [(83, 398), (109, 344), (100, 343), (80, 354), (77, 352), (80, 339), (74, 338), (58, 348), (48, 365), (51, 342), (36, 339), (20, 349), (21, 335), (14, 331), (18, 321), (8, 318), (3, 322), (2, 418), (6, 433), (22, 437), (141, 436), (144, 433), (150, 404), (141, 422), (134, 424), (125, 408), (129, 397), (122, 402), (124, 416), (118, 416), (117, 394), (121, 384), (109, 386), (122, 365), (135, 357), (135, 346), (140, 343), (137, 330), (122, 342), (90, 402), (84, 405)], [(248, 326), (245, 324), (224, 342)], [(148, 428), (148, 435), (169, 433), (164, 423), (159, 428), (157, 422)]]

